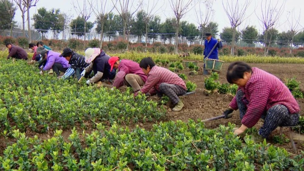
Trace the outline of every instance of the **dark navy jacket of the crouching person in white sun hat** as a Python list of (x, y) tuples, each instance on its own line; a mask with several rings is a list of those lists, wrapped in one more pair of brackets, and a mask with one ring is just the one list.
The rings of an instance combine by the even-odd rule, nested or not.
[(93, 72), (94, 74), (97, 74), (97, 71), (102, 72), (102, 78), (101, 79), (114, 79), (116, 75), (116, 69), (113, 69), (112, 72), (111, 66), (109, 64), (110, 56), (105, 54), (104, 51), (101, 51), (101, 53), (96, 56), (96, 58), (93, 60)]

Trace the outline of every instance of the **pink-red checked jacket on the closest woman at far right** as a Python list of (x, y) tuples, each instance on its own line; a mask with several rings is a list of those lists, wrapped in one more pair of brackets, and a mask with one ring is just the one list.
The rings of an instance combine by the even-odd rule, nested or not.
[[(253, 67), (245, 87), (239, 89), (244, 92), (244, 98), (249, 102), (241, 123), (249, 128), (257, 123), (263, 113), (277, 104), (286, 106), (290, 114), (300, 111), (299, 104), (285, 84), (264, 70)], [(236, 97), (229, 106), (234, 110), (238, 109)]]

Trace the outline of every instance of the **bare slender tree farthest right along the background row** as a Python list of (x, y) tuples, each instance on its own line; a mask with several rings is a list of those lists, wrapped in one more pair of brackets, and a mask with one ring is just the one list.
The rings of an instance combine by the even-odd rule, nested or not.
[(290, 49), (289, 53), (292, 53), (292, 44), (293, 44), (293, 38), (295, 35), (299, 32), (299, 24), (300, 24), (300, 16), (301, 16), (301, 10), (299, 13), (299, 17), (295, 16), (295, 10), (289, 11), (287, 14), (287, 21), (289, 26), (289, 31), (291, 33), (291, 42), (290, 42)]

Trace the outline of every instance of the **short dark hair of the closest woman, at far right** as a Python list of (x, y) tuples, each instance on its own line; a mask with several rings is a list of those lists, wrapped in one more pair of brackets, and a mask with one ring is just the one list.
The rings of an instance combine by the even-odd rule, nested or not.
[(244, 72), (252, 72), (247, 63), (241, 61), (231, 63), (227, 70), (227, 81), (233, 84), (234, 81), (244, 78)]

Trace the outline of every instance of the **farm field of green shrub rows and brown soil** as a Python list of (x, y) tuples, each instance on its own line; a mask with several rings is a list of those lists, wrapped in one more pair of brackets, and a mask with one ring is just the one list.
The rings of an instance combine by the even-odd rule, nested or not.
[[(304, 65), (296, 63), (250, 65), (283, 81), (296, 77), (304, 83)], [(228, 65), (224, 63), (219, 73), (220, 83), (226, 83)], [(165, 67), (169, 68), (169, 64)], [(185, 74), (187, 81), (197, 85), (197, 101), (190, 95), (192, 104), (186, 97), (183, 110), (173, 112), (169, 104), (159, 106), (143, 96), (134, 100), (132, 91), (126, 87), (120, 94), (119, 90), (87, 87), (85, 80), (78, 84), (76, 80), (57, 80), (53, 75), (40, 76), (25, 61), (1, 57), (0, 167), (4, 170), (303, 169), (304, 159), (300, 155), (304, 155), (301, 152), (304, 142), (295, 140), (298, 151), (294, 154), (288, 142), (273, 141), (279, 135), (278, 129), (267, 143), (279, 148), (234, 137), (232, 128), (240, 123), (238, 112), (227, 120), (205, 124), (198, 121), (222, 115), (232, 95), (206, 94), (202, 63), (198, 75), (189, 73), (189, 69), (184, 69), (177, 74)], [(300, 84), (300, 89), (303, 88), (304, 84)], [(304, 99), (297, 101), (303, 109)], [(303, 111), (300, 115), (304, 115)], [(283, 133), (287, 135), (288, 131)]]

